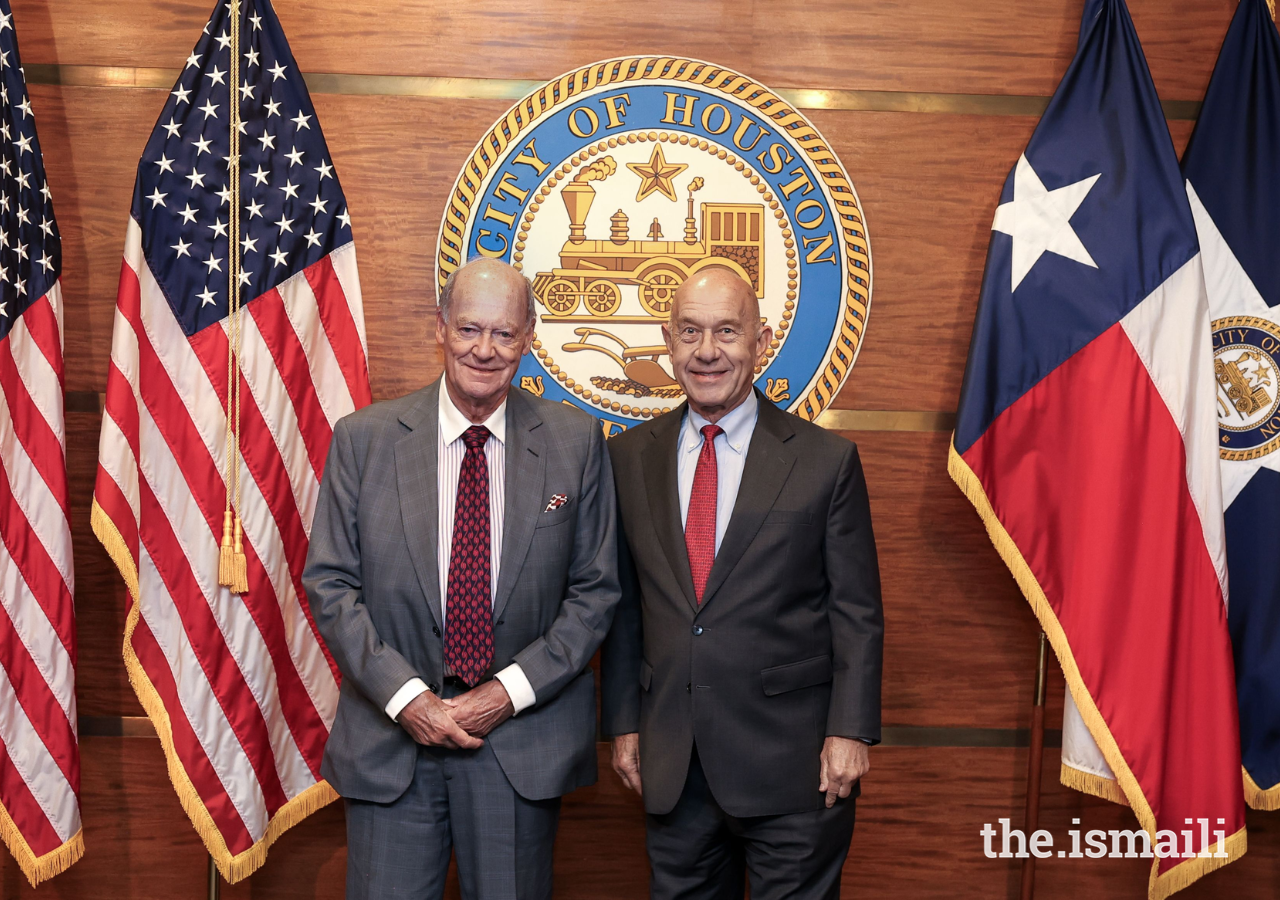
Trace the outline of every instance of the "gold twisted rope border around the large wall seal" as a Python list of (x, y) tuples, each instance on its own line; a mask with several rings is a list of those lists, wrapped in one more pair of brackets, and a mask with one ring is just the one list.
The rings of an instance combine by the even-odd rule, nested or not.
[[(835, 398), (849, 376), (861, 335), (867, 326), (870, 306), (872, 260), (867, 239), (867, 225), (854, 186), (818, 129), (800, 115), (781, 96), (744, 74), (719, 65), (676, 56), (627, 56), (585, 65), (549, 81), (538, 91), (512, 106), (493, 129), (476, 145), (471, 159), (453, 184), (449, 206), (440, 223), (440, 247), (436, 255), (436, 289), (462, 265), (462, 229), (490, 169), (517, 141), (521, 132), (541, 117), (554, 111), (573, 97), (609, 84), (636, 81), (676, 81), (719, 91), (739, 102), (755, 109), (771, 120), (780, 133), (804, 150), (813, 168), (822, 177), (831, 195), (832, 214), (844, 232), (846, 275), (845, 303), (840, 333), (836, 335), (831, 356), (817, 370), (817, 383), (794, 405), (794, 412), (813, 421)], [(858, 274), (858, 273), (861, 274)]]

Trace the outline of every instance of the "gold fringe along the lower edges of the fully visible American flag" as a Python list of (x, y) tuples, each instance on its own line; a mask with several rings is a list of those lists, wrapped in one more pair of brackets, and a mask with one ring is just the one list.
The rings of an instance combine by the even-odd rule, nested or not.
[[(124, 579), (124, 584), (129, 589), (129, 595), (133, 598), (133, 606), (129, 607), (129, 615), (124, 622), (123, 647), (124, 668), (128, 672), (129, 684), (133, 686), (133, 693), (137, 694), (138, 702), (142, 704), (142, 709), (147, 713), (147, 718), (151, 719), (151, 725), (156, 730), (156, 736), (160, 739), (160, 746), (164, 748), (165, 763), (169, 769), (169, 781), (173, 782), (173, 790), (178, 795), (178, 803), (182, 804), (183, 812), (186, 812), (187, 818), (191, 819), (191, 824), (196, 828), (196, 833), (200, 835), (200, 840), (204, 841), (205, 848), (209, 850), (209, 855), (212, 856), (214, 864), (218, 867), (218, 871), (221, 872), (223, 878), (234, 885), (236, 882), (243, 881), (253, 874), (253, 872), (256, 872), (262, 863), (266, 862), (266, 851), (280, 835), (296, 826), (311, 813), (317, 809), (323, 809), (337, 800), (338, 792), (329, 786), (328, 781), (317, 781), (311, 785), (311, 787), (306, 789), (275, 810), (275, 816), (271, 817), (271, 821), (266, 826), (266, 833), (264, 833), (262, 837), (253, 844), (253, 846), (232, 855), (230, 850), (227, 849), (227, 841), (223, 840), (221, 832), (214, 823), (214, 817), (210, 816), (209, 809), (205, 807), (205, 801), (200, 799), (200, 792), (191, 782), (191, 777), (187, 775), (187, 771), (182, 767), (182, 760), (178, 758), (178, 753), (173, 745), (173, 725), (169, 721), (169, 713), (164, 708), (164, 702), (156, 693), (155, 686), (151, 684), (151, 679), (147, 677), (141, 661), (133, 652), (133, 630), (137, 627), (138, 616), (142, 612), (138, 602), (138, 571), (134, 566), (133, 556), (129, 553), (129, 548), (125, 545), (124, 539), (115, 527), (115, 524), (111, 521), (110, 516), (106, 515), (102, 507), (97, 504), (97, 501), (93, 501), (93, 510), (90, 513), (90, 521), (93, 526), (93, 534), (101, 542), (102, 547), (106, 548), (106, 552), (111, 557), (116, 568), (120, 570), (120, 577)], [(0, 828), (3, 828), (3, 823), (0, 823)], [(6, 832), (0, 831), (0, 835), (4, 835), (8, 840)], [(81, 851), (83, 851), (83, 849)], [(14, 855), (17, 855), (17, 853)], [(73, 862), (76, 860), (72, 859), (67, 862), (65, 865), (70, 865)], [(65, 868), (65, 865), (63, 868)], [(26, 868), (23, 871), (26, 871)], [(28, 878), (29, 877), (31, 876), (28, 874)]]

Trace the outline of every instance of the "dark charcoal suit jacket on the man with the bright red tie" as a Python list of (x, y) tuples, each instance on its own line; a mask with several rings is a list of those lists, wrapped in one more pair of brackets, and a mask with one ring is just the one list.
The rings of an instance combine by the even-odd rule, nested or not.
[(603, 725), (640, 732), (650, 813), (676, 805), (695, 740), (731, 816), (820, 808), (827, 735), (879, 740), (883, 618), (858, 448), (758, 399), (701, 606), (676, 481), (686, 407), (608, 444), (625, 540)]

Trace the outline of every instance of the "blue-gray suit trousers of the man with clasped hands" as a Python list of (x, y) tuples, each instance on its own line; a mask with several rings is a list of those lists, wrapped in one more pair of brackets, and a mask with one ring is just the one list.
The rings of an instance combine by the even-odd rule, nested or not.
[(488, 741), (420, 746), (404, 794), (346, 807), (347, 900), (439, 900), (451, 850), (463, 900), (550, 900), (559, 798), (520, 796)]

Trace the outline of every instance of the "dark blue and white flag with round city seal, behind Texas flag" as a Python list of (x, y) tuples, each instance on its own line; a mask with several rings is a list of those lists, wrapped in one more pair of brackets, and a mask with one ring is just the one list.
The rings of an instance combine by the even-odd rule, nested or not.
[(1280, 35), (1243, 0), (1183, 154), (1213, 324), (1245, 799), (1280, 809)]

